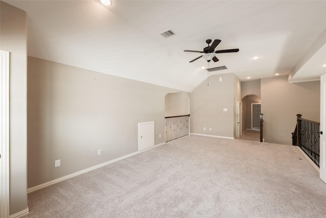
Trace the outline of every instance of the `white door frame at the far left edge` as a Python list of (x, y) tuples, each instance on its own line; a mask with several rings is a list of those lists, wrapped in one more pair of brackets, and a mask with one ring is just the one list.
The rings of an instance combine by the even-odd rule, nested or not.
[(0, 149), (0, 216), (9, 217), (9, 69), (10, 53), (0, 50), (1, 123)]

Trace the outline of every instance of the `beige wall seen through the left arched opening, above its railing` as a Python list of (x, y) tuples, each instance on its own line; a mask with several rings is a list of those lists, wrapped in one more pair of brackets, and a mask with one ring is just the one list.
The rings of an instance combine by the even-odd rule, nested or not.
[(165, 116), (179, 116), (190, 113), (190, 93), (172, 92), (165, 96)]

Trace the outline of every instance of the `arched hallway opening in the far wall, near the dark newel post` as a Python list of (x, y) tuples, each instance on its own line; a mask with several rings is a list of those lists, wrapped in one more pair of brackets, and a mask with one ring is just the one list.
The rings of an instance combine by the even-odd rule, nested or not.
[(261, 99), (255, 94), (248, 94), (241, 100), (242, 103), (242, 136), (241, 139), (260, 141)]

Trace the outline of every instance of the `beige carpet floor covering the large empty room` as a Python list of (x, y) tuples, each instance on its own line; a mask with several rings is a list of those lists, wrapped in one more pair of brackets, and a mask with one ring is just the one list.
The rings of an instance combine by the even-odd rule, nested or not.
[(326, 217), (293, 146), (189, 135), (29, 193), (24, 217)]

